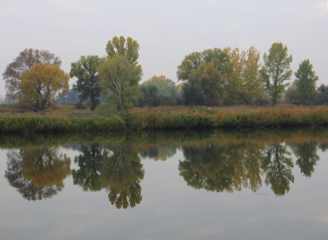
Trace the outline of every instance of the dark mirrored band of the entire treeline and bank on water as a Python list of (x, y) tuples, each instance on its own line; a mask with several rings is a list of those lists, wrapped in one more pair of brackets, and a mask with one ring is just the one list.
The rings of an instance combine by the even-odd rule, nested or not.
[[(318, 149), (328, 146), (328, 129), (164, 131), (113, 135), (51, 135), (38, 147), (23, 147), (32, 140), (0, 136), (0, 146), (18, 147), (8, 151), (5, 177), (24, 198), (51, 198), (64, 187), (72, 173), (73, 184), (84, 191), (108, 191), (116, 208), (135, 207), (142, 201), (141, 180), (145, 171), (141, 159), (165, 161), (181, 151), (179, 175), (188, 186), (216, 192), (249, 188), (257, 192), (262, 184), (276, 195), (289, 192), (294, 183), (293, 168), (310, 178), (319, 161)], [(40, 139), (40, 138), (37, 138)], [(19, 143), (19, 146), (15, 146)], [(77, 169), (59, 149), (74, 143)], [(10, 146), (10, 147), (8, 147)], [(75, 147), (76, 148), (76, 147)], [(295, 158), (294, 158), (295, 156)]]

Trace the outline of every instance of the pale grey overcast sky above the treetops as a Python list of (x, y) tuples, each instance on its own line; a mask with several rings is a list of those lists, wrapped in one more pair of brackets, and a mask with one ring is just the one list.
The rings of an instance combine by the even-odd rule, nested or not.
[[(177, 66), (193, 51), (253, 45), (263, 56), (282, 42), (293, 71), (309, 58), (317, 84), (328, 84), (326, 0), (10, 0), (0, 6), (0, 32), (1, 73), (26, 48), (50, 50), (69, 72), (81, 55), (104, 56), (108, 40), (123, 35), (140, 45), (142, 81), (153, 75), (176, 81)], [(1, 76), (3, 96), (4, 86)]]

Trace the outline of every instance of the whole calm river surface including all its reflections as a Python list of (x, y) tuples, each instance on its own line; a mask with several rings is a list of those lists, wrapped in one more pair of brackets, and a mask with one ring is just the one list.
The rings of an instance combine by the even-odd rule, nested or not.
[(0, 239), (328, 239), (328, 128), (0, 136)]

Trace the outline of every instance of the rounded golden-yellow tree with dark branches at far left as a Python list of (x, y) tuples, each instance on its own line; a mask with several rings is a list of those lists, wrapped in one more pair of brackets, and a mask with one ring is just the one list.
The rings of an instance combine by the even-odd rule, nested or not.
[(18, 95), (20, 105), (27, 105), (34, 110), (42, 110), (51, 105), (58, 94), (69, 91), (70, 76), (58, 65), (37, 63), (31, 70), (20, 75), (22, 92)]

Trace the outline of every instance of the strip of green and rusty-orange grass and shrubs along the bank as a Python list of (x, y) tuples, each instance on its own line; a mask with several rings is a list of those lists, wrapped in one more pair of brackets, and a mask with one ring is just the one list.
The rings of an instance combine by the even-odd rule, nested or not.
[(67, 106), (42, 112), (0, 106), (1, 133), (165, 130), (202, 128), (276, 128), (328, 125), (328, 106), (255, 107), (176, 106), (134, 108), (127, 112), (74, 110)]

